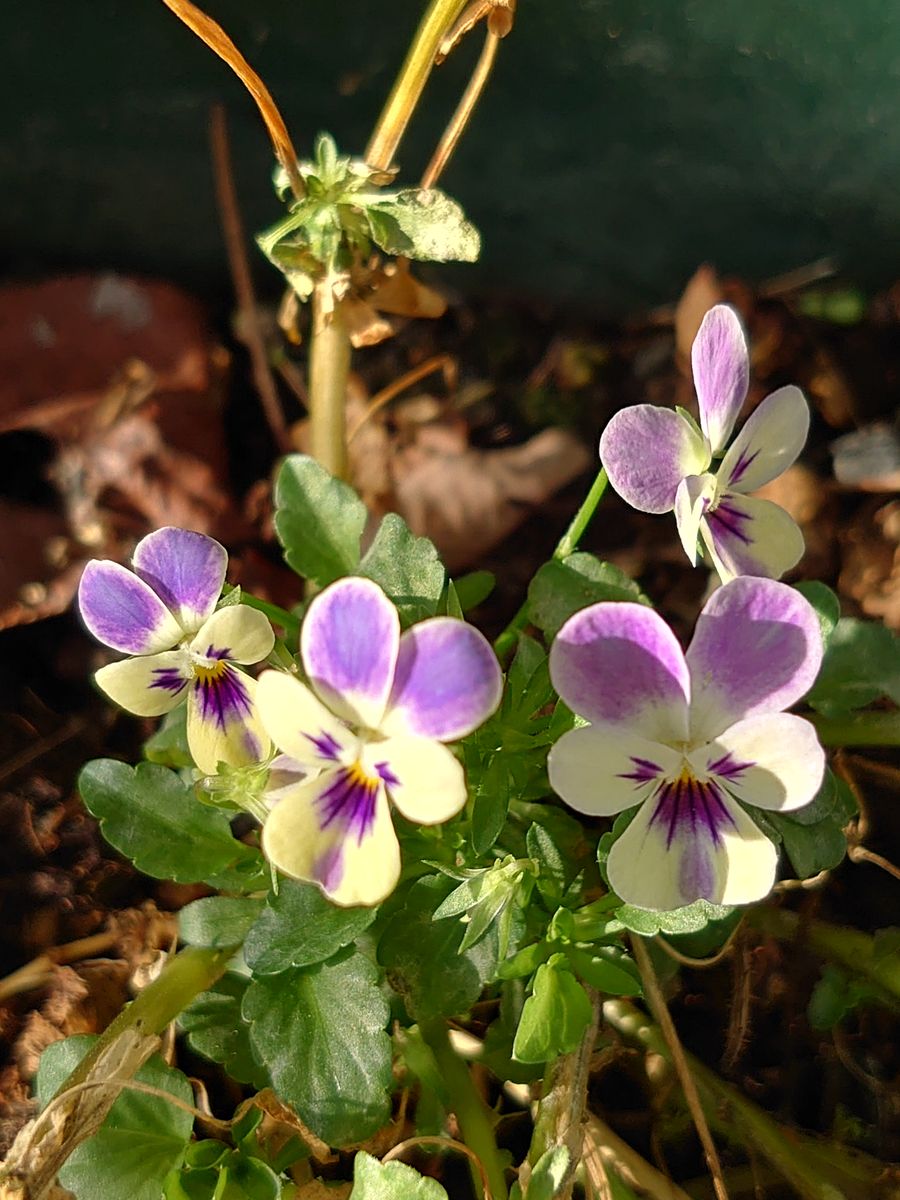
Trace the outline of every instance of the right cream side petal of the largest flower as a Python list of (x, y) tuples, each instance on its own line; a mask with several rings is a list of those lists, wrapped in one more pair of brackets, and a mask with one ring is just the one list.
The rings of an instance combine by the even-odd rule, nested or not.
[(691, 758), (739, 800), (775, 812), (809, 804), (826, 768), (815, 728), (790, 713), (738, 721)]

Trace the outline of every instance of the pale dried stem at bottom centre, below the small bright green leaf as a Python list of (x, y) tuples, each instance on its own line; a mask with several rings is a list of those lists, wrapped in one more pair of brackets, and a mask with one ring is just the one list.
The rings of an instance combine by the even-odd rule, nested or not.
[[(560, 1055), (547, 1067), (544, 1080), (544, 1094), (538, 1105), (538, 1117), (534, 1123), (532, 1145), (528, 1150), (528, 1166), (520, 1172), (520, 1182), (530, 1174), (530, 1168), (548, 1150), (564, 1146), (569, 1159), (563, 1178), (557, 1184), (554, 1200), (570, 1200), (575, 1184), (575, 1171), (581, 1162), (584, 1145), (584, 1105), (588, 1094), (588, 1074), (590, 1056), (596, 1044), (596, 1030), (600, 1024), (600, 996), (593, 988), (590, 996), (592, 1019), (581, 1044), (571, 1054)], [(522, 1188), (528, 1200), (528, 1186)]]

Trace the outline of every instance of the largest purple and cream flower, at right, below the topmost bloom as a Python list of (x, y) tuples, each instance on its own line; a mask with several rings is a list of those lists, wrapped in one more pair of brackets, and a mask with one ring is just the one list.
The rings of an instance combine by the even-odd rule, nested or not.
[(551, 679), (589, 724), (551, 749), (550, 782), (592, 816), (640, 805), (607, 863), (623, 900), (671, 911), (772, 889), (775, 846), (742, 804), (790, 812), (818, 791), (816, 732), (784, 709), (821, 661), (812, 607), (772, 580), (714, 592), (686, 654), (642, 605), (592, 605), (563, 625)]

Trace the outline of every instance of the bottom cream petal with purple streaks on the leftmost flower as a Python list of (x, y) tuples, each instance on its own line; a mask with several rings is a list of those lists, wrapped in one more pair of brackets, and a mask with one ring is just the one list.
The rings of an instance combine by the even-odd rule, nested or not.
[(256, 688), (256, 679), (228, 662), (194, 679), (187, 696), (187, 748), (205, 775), (215, 775), (220, 762), (246, 767), (269, 754)]

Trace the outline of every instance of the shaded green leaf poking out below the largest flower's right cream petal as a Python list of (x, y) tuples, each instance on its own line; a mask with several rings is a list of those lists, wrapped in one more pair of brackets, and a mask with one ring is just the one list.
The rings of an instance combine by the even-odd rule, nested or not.
[(836, 866), (847, 852), (846, 824), (856, 816), (857, 804), (850, 787), (827, 770), (818, 794), (793, 812), (761, 812), (752, 817), (773, 841), (784, 845), (800, 880)]

